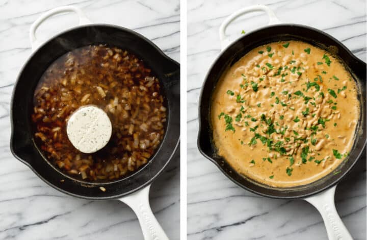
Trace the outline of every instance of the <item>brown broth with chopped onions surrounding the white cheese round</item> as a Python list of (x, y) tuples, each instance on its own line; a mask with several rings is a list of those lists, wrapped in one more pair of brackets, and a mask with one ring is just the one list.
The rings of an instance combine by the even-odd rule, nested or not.
[[(159, 80), (141, 60), (115, 47), (86, 46), (63, 55), (41, 77), (33, 101), (38, 147), (66, 174), (85, 180), (108, 181), (136, 171), (165, 131)], [(106, 147), (84, 154), (69, 141), (66, 123), (89, 104), (109, 115), (113, 129)]]

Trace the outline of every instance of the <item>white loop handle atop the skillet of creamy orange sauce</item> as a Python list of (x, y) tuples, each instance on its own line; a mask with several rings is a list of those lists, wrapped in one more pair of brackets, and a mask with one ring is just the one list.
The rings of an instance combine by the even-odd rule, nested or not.
[(219, 37), (220, 37), (220, 41), (221, 41), (222, 50), (225, 49), (231, 43), (231, 41), (229, 40), (228, 36), (225, 33), (229, 23), (231, 23), (233, 20), (235, 20), (239, 16), (242, 16), (246, 13), (258, 12), (258, 11), (266, 12), (268, 14), (268, 16), (269, 16), (269, 23), (268, 24), (269, 25), (281, 23), (281, 21), (276, 17), (275, 13), (270, 8), (268, 8), (267, 6), (256, 5), (256, 6), (251, 6), (251, 7), (248, 7), (248, 8), (242, 8), (242, 9), (232, 13), (230, 16), (228, 16), (223, 21), (222, 25), (219, 28)]

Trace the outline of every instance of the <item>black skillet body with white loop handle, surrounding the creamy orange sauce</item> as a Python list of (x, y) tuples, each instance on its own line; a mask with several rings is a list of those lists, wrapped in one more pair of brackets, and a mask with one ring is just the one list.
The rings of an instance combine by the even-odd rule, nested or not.
[[(225, 28), (227, 25), (238, 16), (252, 11), (265, 11), (270, 17), (270, 24), (280, 23), (275, 17), (274, 13), (266, 6), (254, 6), (239, 10), (229, 16), (222, 24), (220, 34), (222, 41), (222, 49), (229, 43), (225, 38)], [(216, 84), (228, 66), (231, 66), (243, 57), (247, 52), (259, 45), (264, 45), (278, 40), (301, 40), (312, 45), (317, 45), (322, 49), (332, 51), (333, 55), (341, 59), (347, 69), (352, 73), (354, 80), (358, 85), (358, 98), (360, 102), (360, 118), (357, 125), (355, 135), (355, 142), (348, 159), (331, 174), (324, 178), (299, 187), (290, 188), (275, 188), (269, 187), (265, 184), (255, 182), (249, 178), (236, 172), (232, 167), (216, 153), (216, 148), (212, 142), (212, 129), (210, 123), (209, 109), (211, 107), (212, 93)], [(224, 44), (224, 45), (223, 45)], [(332, 36), (320, 30), (310, 28), (302, 25), (294, 24), (276, 24), (268, 27), (260, 28), (250, 33), (246, 33), (240, 39), (231, 43), (213, 63), (209, 69), (208, 74), (204, 80), (201, 88), (199, 100), (199, 134), (198, 134), (198, 148), (201, 154), (207, 159), (216, 164), (219, 169), (234, 183), (251, 191), (252, 193), (278, 199), (303, 199), (309, 196), (314, 196), (325, 189), (335, 186), (341, 179), (347, 175), (354, 164), (359, 159), (366, 143), (366, 123), (365, 123), (365, 109), (366, 109), (366, 64), (356, 58), (346, 46), (340, 43)], [(339, 174), (335, 172), (341, 171)], [(333, 188), (332, 197), (333, 197)], [(305, 199), (309, 200), (309, 199)], [(329, 233), (329, 231), (328, 231)], [(330, 237), (330, 235), (329, 235)]]

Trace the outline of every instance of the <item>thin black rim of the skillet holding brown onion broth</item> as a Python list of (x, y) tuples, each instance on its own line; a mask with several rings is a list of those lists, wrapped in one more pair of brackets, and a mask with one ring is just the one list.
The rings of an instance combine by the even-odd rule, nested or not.
[[(12, 95), (11, 95), (11, 101), (10, 101), (10, 125), (11, 125), (11, 133), (10, 133), (9, 145), (10, 145), (10, 152), (12, 153), (12, 155), (17, 160), (19, 160), (20, 162), (22, 162), (25, 165), (27, 165), (37, 175), (37, 177), (39, 177), (40, 179), (42, 179), (42, 181), (44, 181), (45, 183), (47, 183), (49, 186), (51, 186), (51, 187), (59, 190), (61, 193), (64, 193), (64, 194), (69, 195), (69, 196), (72, 196), (72, 197), (81, 198), (81, 199), (88, 199), (88, 200), (109, 200), (109, 199), (118, 199), (118, 198), (121, 198), (121, 197), (124, 197), (124, 196), (128, 196), (130, 194), (133, 194), (136, 191), (138, 191), (138, 190), (146, 187), (147, 185), (151, 184), (156, 178), (158, 178), (164, 172), (164, 170), (166, 169), (166, 167), (168, 166), (168, 164), (171, 162), (172, 158), (174, 158), (175, 155), (176, 155), (176, 153), (177, 153), (177, 149), (180, 146), (180, 132), (178, 132), (178, 134), (177, 134), (177, 140), (174, 142), (174, 145), (172, 145), (172, 152), (169, 153), (169, 155), (170, 155), (169, 158), (167, 160), (165, 160), (165, 163), (161, 166), (161, 169), (159, 171), (157, 171), (154, 176), (152, 176), (149, 180), (145, 181), (143, 184), (140, 184), (139, 186), (135, 187), (132, 190), (129, 190), (129, 191), (126, 191), (126, 192), (123, 192), (123, 193), (118, 193), (118, 194), (115, 194), (115, 195), (109, 195), (107, 197), (96, 197), (96, 196), (90, 197), (90, 196), (75, 194), (75, 193), (72, 193), (72, 192), (70, 192), (68, 190), (65, 190), (65, 189), (63, 189), (63, 188), (55, 185), (54, 183), (51, 183), (50, 181), (48, 181), (39, 172), (37, 172), (37, 170), (33, 167), (33, 165), (30, 162), (28, 162), (27, 160), (24, 160), (21, 157), (19, 157), (18, 154), (14, 151), (14, 145), (16, 144), (14, 142), (14, 136), (15, 136), (15, 133), (14, 133), (14, 128), (15, 128), (14, 122), (15, 121), (14, 121), (14, 112), (13, 112), (14, 93), (15, 93), (17, 87), (19, 87), (20, 77), (21, 77), (24, 69), (29, 65), (29, 63), (32, 60), (32, 58), (34, 57), (34, 55), (36, 55), (43, 48), (43, 46), (45, 46), (49, 42), (55, 40), (56, 38), (58, 38), (58, 37), (60, 37), (60, 36), (62, 36), (64, 34), (67, 34), (68, 32), (74, 31), (74, 30), (79, 30), (79, 29), (83, 29), (83, 28), (98, 28), (98, 27), (102, 27), (102, 28), (103, 27), (107, 27), (107, 28), (111, 28), (111, 29), (117, 29), (119, 31), (125, 31), (125, 32), (127, 32), (129, 34), (135, 35), (137, 38), (140, 38), (143, 41), (145, 41), (146, 43), (148, 43), (158, 54), (160, 54), (163, 58), (165, 58), (167, 61), (171, 62), (174, 65), (174, 69), (175, 70), (169, 72), (168, 74), (172, 74), (173, 77), (178, 76), (178, 78), (177, 78), (176, 81), (178, 82), (178, 86), (179, 86), (179, 83), (180, 83), (180, 75), (179, 75), (179, 73), (180, 73), (180, 64), (177, 61), (175, 61), (172, 58), (170, 58), (169, 56), (167, 56), (156, 44), (154, 44), (151, 40), (149, 40), (145, 36), (141, 35), (140, 33), (135, 32), (134, 30), (131, 30), (131, 29), (128, 29), (128, 28), (124, 28), (124, 27), (121, 27), (121, 26), (118, 26), (118, 25), (112, 25), (112, 24), (108, 24), (108, 23), (91, 23), (91, 24), (87, 24), (87, 25), (81, 25), (81, 26), (75, 26), (75, 27), (72, 27), (72, 28), (68, 28), (68, 29), (66, 29), (64, 31), (61, 31), (61, 32), (57, 33), (54, 36), (49, 37), (42, 44), (40, 44), (39, 46), (37, 46), (36, 49), (34, 51), (32, 51), (32, 53), (30, 54), (30, 56), (27, 58), (27, 60), (24, 62), (24, 64), (20, 68), (20, 70), (18, 72), (18, 75), (16, 77), (16, 81), (14, 82), (14, 87), (13, 87), (13, 91), (12, 91)], [(171, 78), (172, 78), (172, 76), (167, 76), (167, 79), (171, 79)], [(174, 79), (173, 79), (173, 81), (174, 81)], [(167, 91), (168, 90), (169, 89), (167, 89)], [(174, 124), (174, 123), (172, 123), (172, 124)], [(166, 138), (166, 134), (165, 134), (164, 139), (165, 138)], [(28, 146), (28, 147), (30, 147), (30, 146)], [(44, 159), (44, 157), (42, 156), (42, 154), (39, 152), (38, 147), (34, 147), (34, 146), (31, 146), (31, 147), (32, 148), (36, 148), (37, 149), (36, 151), (38, 152), (38, 154), (40, 155), (40, 157)], [(162, 148), (161, 147), (162, 146), (160, 145), (160, 147), (158, 148), (158, 150), (154, 153), (153, 158), (160, 151), (162, 151)], [(150, 160), (152, 160), (152, 159), (150, 159)], [(149, 164), (149, 163), (152, 163), (152, 162), (148, 162), (147, 164)], [(145, 164), (145, 166), (147, 164)], [(144, 168), (145, 166), (143, 166), (142, 168)], [(138, 171), (136, 171), (135, 173), (133, 173), (133, 175), (135, 175), (136, 173), (139, 173), (140, 170), (142, 170), (142, 169), (139, 169)], [(113, 182), (106, 182), (106, 183), (102, 183), (102, 184), (96, 184), (94, 187), (103, 186), (103, 184), (104, 184), (104, 186), (106, 186), (106, 185), (108, 185), (110, 183), (124, 181), (127, 178), (128, 177), (122, 178), (120, 180), (113, 181)], [(72, 181), (74, 181), (74, 182), (78, 182), (78, 181), (75, 181), (75, 179), (73, 179), (73, 178), (69, 178), (69, 179), (72, 180)], [(89, 182), (89, 183), (79, 182), (79, 185), (81, 185), (81, 186), (83, 186), (84, 184), (93, 184), (93, 182)], [(121, 191), (121, 190), (119, 189), (119, 191)]]

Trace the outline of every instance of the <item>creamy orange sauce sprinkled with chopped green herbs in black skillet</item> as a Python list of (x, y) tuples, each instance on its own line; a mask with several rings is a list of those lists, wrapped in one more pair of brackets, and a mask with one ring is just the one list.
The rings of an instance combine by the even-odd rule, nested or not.
[(351, 150), (358, 118), (349, 72), (300, 41), (247, 53), (222, 76), (211, 106), (218, 154), (274, 187), (304, 185), (335, 170)]

